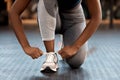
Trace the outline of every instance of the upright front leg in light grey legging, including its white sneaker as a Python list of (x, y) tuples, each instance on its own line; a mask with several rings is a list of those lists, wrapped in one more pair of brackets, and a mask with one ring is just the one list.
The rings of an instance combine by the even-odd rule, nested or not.
[(47, 51), (46, 60), (40, 69), (41, 71), (57, 71), (58, 69), (58, 58), (54, 52), (57, 12), (57, 0), (39, 0), (38, 22)]

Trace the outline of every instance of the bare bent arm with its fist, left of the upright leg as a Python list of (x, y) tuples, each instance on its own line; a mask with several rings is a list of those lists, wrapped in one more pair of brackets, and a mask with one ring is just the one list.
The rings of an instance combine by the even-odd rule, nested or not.
[(39, 48), (31, 47), (23, 30), (22, 22), (20, 19), (21, 13), (25, 10), (31, 0), (16, 0), (9, 11), (9, 19), (12, 28), (16, 34), (16, 37), (21, 44), (25, 53), (31, 56), (33, 59), (42, 55), (42, 51)]

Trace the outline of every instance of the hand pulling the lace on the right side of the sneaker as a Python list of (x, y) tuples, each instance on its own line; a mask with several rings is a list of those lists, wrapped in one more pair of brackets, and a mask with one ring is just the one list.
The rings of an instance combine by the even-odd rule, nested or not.
[(58, 53), (62, 56), (62, 58), (69, 58), (75, 55), (78, 51), (78, 48), (75, 46), (65, 46)]

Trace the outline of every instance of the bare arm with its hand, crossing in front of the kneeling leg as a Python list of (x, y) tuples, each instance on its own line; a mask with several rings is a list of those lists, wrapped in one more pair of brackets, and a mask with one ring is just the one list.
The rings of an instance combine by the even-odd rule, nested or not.
[(72, 45), (65, 46), (59, 51), (62, 58), (69, 58), (75, 55), (80, 47), (93, 35), (101, 23), (102, 12), (100, 0), (87, 0), (87, 6), (91, 19), (78, 39)]

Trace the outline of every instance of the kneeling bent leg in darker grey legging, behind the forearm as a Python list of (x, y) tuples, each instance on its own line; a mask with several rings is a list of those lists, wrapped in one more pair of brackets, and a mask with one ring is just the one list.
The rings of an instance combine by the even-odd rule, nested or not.
[[(71, 11), (66, 11), (60, 13), (62, 20), (62, 33), (64, 46), (71, 45), (75, 40), (80, 36), (84, 28), (86, 27), (86, 22), (84, 14), (82, 11), (81, 5), (77, 8), (72, 9)], [(79, 49), (76, 55), (72, 56), (69, 59), (66, 59), (66, 62), (72, 68), (78, 68), (84, 62), (86, 54), (88, 51), (87, 42)]]

